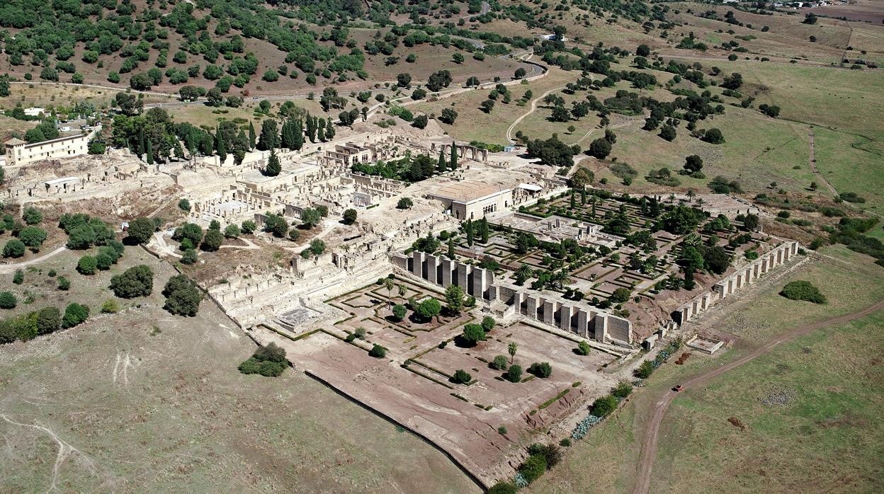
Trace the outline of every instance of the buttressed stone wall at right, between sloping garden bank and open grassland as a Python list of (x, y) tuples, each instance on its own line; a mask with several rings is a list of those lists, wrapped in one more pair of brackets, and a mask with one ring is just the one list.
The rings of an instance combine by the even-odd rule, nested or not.
[(798, 254), (798, 247), (798, 242), (795, 240), (787, 240), (781, 245), (774, 247), (773, 250), (765, 255), (761, 255), (755, 261), (739, 268), (728, 277), (722, 278), (713, 285), (711, 291), (697, 295), (697, 297), (676, 309), (672, 314), (673, 320), (679, 324), (687, 323), (707, 308), (712, 307), (715, 302), (725, 299), (743, 287), (755, 283), (759, 277), (765, 276), (783, 262), (789, 261), (793, 255)]

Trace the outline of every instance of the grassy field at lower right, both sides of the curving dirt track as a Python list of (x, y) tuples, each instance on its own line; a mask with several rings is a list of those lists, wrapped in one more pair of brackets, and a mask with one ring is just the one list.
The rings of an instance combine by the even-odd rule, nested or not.
[[(738, 338), (735, 348), (714, 356), (694, 352), (684, 365), (670, 362), (662, 366), (618, 412), (569, 448), (560, 466), (544, 475), (530, 491), (632, 490), (645, 420), (670, 387), (710, 366), (735, 360), (759, 342), (796, 325), (850, 314), (884, 298), (880, 284), (884, 268), (870, 258), (841, 246), (826, 247), (821, 254), (818, 261), (766, 285), (758, 295), (736, 301), (701, 320), (702, 327), (734, 334)], [(778, 295), (782, 285), (793, 279), (806, 279), (819, 286), (829, 298), (827, 305)], [(765, 483), (776, 482), (774, 491), (789, 486), (806, 491), (806, 484), (792, 482), (812, 477), (821, 457), (827, 461), (827, 475), (832, 471), (857, 474), (857, 469), (865, 468), (863, 475), (850, 477), (856, 482), (852, 491), (879, 490), (880, 462), (876, 458), (884, 428), (868, 417), (881, 407), (884, 376), (875, 359), (880, 360), (882, 322), (884, 315), (877, 314), (842, 328), (817, 331), (776, 346), (773, 353), (714, 379), (705, 389), (684, 391), (667, 411), (660, 430), (652, 490), (713, 491), (723, 487), (726, 491), (759, 491), (765, 490)], [(810, 347), (811, 353), (804, 353), (805, 347)], [(788, 371), (778, 368), (780, 363), (788, 366)], [(791, 407), (771, 408), (758, 402), (758, 390), (771, 386), (800, 390), (805, 383), (806, 390), (798, 393)], [(820, 401), (826, 398), (832, 401)], [(854, 409), (842, 415), (863, 420), (833, 424), (832, 429), (813, 424), (811, 435), (799, 427), (827, 420), (841, 413), (839, 407), (844, 406)], [(750, 429), (736, 429), (726, 422), (731, 416), (740, 418)], [(781, 417), (784, 425), (778, 425)], [(837, 430), (845, 427), (853, 428), (847, 437), (867, 434), (868, 438), (857, 442), (845, 439), (840, 447), (857, 450), (850, 454), (828, 453), (831, 450), (827, 445), (837, 437)], [(758, 454), (759, 447), (764, 454)], [(775, 468), (759, 467), (763, 458), (780, 463)], [(722, 477), (726, 483), (722, 483)]]

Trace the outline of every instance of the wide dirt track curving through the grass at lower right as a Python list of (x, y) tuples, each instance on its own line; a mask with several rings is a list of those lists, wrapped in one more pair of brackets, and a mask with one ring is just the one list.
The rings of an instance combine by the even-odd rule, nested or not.
[[(871, 315), (874, 312), (882, 309), (884, 309), (884, 300), (880, 300), (878, 303), (875, 303), (874, 305), (864, 308), (863, 310), (860, 310), (859, 312), (855, 312), (853, 314), (840, 315), (838, 317), (833, 317), (825, 321), (819, 321), (818, 323), (798, 326), (789, 331), (781, 333), (774, 338), (769, 339), (764, 345), (759, 346), (755, 350), (751, 351), (751, 353), (747, 353), (743, 355), (743, 357), (740, 357), (735, 361), (728, 362), (714, 369), (709, 369), (702, 374), (698, 374), (697, 376), (690, 377), (689, 379), (683, 381), (682, 385), (685, 388), (692, 388), (704, 385), (711, 381), (713, 378), (720, 376), (725, 372), (728, 372), (728, 370), (736, 369), (743, 364), (754, 360), (756, 357), (770, 352), (774, 346), (780, 345), (785, 341), (803, 336), (811, 331), (817, 331), (823, 328), (836, 326), (843, 323), (849, 323), (854, 319), (859, 319), (861, 317), (865, 317), (866, 315)], [(647, 430), (644, 433), (644, 439), (642, 441), (642, 453), (638, 462), (638, 483), (636, 483), (636, 489), (634, 490), (634, 492), (636, 492), (637, 494), (645, 494), (651, 489), (651, 473), (654, 460), (657, 456), (657, 439), (659, 437), (660, 423), (663, 422), (663, 417), (666, 415), (667, 408), (676, 396), (677, 395), (673, 391), (666, 391), (666, 394), (661, 396), (660, 399), (654, 404), (653, 414), (651, 416), (650, 422), (648, 423)]]

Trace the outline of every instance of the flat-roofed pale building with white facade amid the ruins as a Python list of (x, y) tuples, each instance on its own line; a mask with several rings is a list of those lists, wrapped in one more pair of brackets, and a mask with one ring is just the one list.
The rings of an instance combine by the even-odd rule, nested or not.
[(427, 198), (441, 201), (457, 219), (479, 219), (513, 205), (513, 189), (481, 182), (457, 182), (439, 187)]

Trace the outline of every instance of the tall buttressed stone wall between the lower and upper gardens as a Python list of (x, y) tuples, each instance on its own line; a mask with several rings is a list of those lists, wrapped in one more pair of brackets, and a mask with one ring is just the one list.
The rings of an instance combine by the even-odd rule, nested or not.
[(529, 289), (495, 285), (492, 271), (415, 251), (393, 255), (393, 265), (435, 285), (457, 285), (476, 299), (503, 302), (519, 314), (602, 343), (632, 344), (632, 323), (588, 304)]

